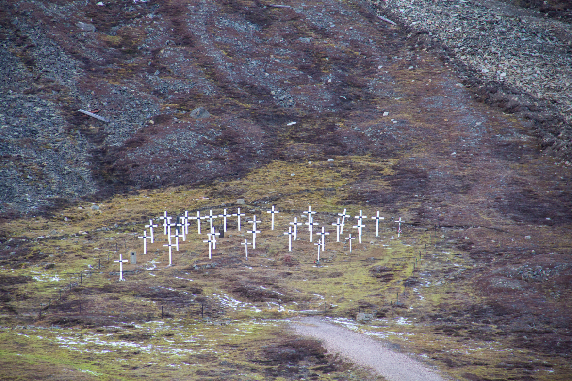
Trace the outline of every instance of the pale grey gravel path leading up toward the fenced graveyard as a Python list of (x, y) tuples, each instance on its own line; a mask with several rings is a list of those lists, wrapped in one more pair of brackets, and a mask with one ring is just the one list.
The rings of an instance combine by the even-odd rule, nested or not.
[(445, 380), (424, 364), (390, 350), (378, 340), (319, 318), (302, 318), (292, 326), (298, 334), (321, 340), (328, 352), (339, 352), (354, 363), (373, 368), (390, 381)]

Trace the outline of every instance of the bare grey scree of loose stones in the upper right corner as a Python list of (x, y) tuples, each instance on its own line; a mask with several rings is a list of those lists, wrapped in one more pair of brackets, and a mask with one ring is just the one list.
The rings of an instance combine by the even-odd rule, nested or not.
[[(542, 148), (572, 161), (572, 26), (493, 0), (371, 1), (480, 85), (483, 101), (537, 122)], [(410, 42), (412, 44), (412, 42)]]

